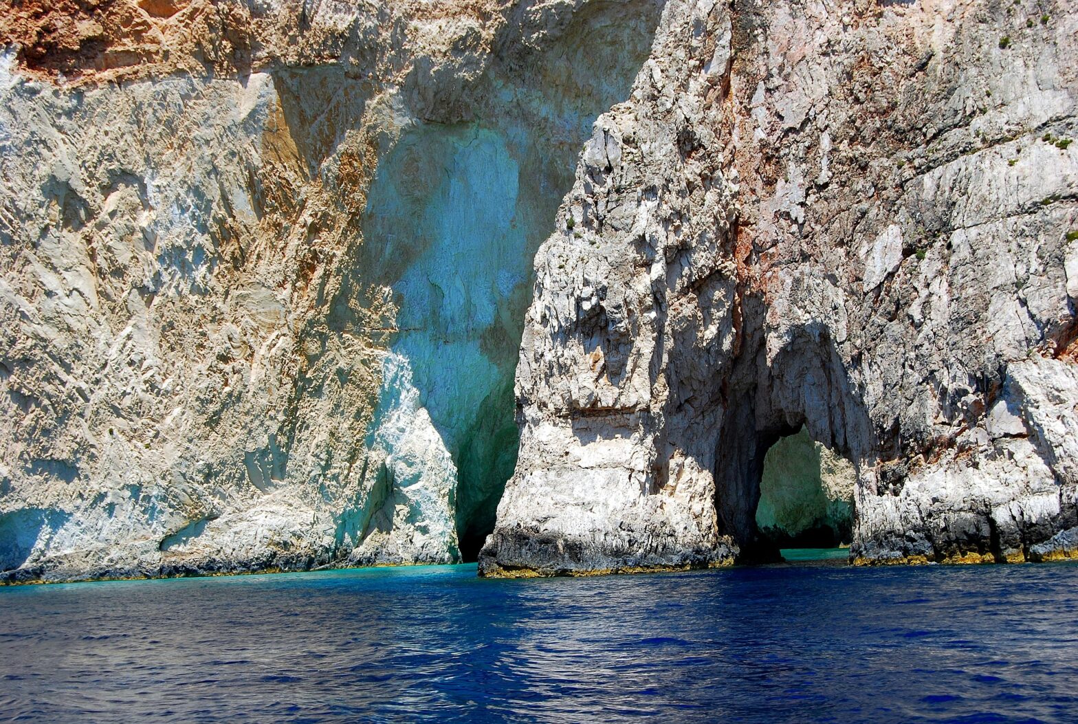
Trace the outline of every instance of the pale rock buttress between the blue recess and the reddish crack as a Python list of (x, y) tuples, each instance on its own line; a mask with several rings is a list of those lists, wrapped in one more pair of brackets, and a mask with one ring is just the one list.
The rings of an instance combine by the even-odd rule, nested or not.
[[(715, 141), (720, 107), (703, 99), (721, 90), (729, 38), (724, 10), (668, 3), (633, 98), (599, 119), (581, 154), (537, 255), (516, 371), (521, 456), (481, 554), (485, 574), (713, 566), (735, 552), (715, 505), (720, 419), (657, 374), (674, 368), (671, 354), (686, 380), (721, 374), (732, 344), (729, 316), (674, 306), (690, 289), (733, 298), (720, 247), (734, 186), (694, 181), (717, 169), (706, 147), (681, 157), (696, 129)], [(700, 414), (667, 418), (676, 404)]]

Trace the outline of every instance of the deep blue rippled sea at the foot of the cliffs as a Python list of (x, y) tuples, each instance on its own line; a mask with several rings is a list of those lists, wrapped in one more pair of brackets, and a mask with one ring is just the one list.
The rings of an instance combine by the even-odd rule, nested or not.
[(1078, 566), (0, 589), (0, 719), (1078, 721)]

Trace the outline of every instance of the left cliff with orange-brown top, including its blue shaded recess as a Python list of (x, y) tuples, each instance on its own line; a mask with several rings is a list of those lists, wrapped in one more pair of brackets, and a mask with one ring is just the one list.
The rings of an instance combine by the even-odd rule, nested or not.
[(4, 576), (474, 556), (531, 256), (658, 17), (3, 5)]

